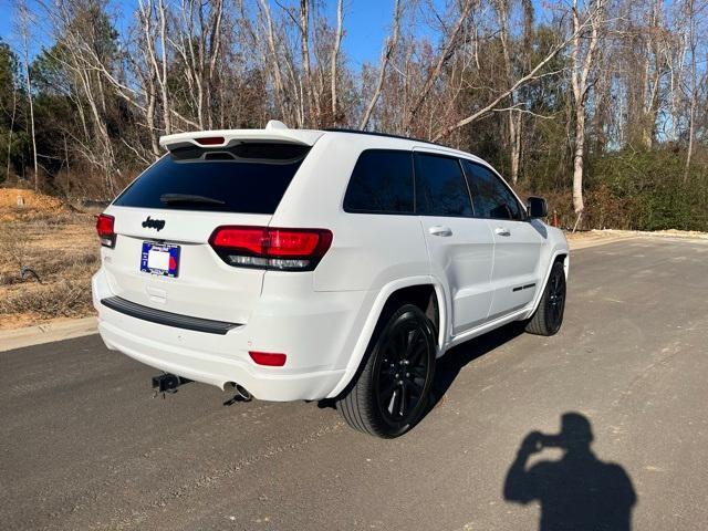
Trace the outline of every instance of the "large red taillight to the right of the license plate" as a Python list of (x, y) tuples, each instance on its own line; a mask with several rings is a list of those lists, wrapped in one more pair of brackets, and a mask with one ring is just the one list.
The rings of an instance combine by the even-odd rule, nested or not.
[(209, 243), (231, 266), (309, 271), (332, 244), (326, 229), (219, 227)]

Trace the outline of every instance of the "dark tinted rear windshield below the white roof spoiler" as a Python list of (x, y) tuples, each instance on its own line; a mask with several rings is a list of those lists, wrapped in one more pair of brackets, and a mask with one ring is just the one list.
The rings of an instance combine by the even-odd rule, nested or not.
[(267, 143), (176, 148), (145, 170), (113, 204), (273, 214), (309, 150), (309, 146)]

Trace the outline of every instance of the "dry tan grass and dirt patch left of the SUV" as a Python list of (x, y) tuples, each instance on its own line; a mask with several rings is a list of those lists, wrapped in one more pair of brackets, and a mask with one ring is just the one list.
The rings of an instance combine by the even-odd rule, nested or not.
[(24, 202), (0, 200), (0, 330), (91, 315), (100, 254), (93, 215), (46, 196)]

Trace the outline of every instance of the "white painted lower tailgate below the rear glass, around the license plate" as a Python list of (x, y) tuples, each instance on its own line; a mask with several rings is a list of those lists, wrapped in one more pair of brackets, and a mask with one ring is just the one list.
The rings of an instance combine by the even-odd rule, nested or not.
[[(271, 216), (225, 215), (111, 207), (117, 235), (115, 249), (104, 251), (111, 291), (149, 308), (232, 323), (248, 322), (260, 296), (263, 271), (226, 264), (209, 246), (209, 237), (222, 225), (264, 226)], [(164, 221), (158, 232), (144, 228), (148, 218)], [(140, 270), (143, 244), (164, 242), (179, 247), (177, 275)]]

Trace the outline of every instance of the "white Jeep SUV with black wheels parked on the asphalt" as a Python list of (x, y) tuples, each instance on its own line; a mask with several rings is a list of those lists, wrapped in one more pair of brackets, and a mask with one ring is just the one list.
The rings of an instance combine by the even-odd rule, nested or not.
[(279, 122), (160, 145), (98, 217), (92, 288), (106, 346), (166, 387), (332, 398), (395, 437), (451, 346), (511, 321), (561, 326), (563, 233), (473, 155)]

